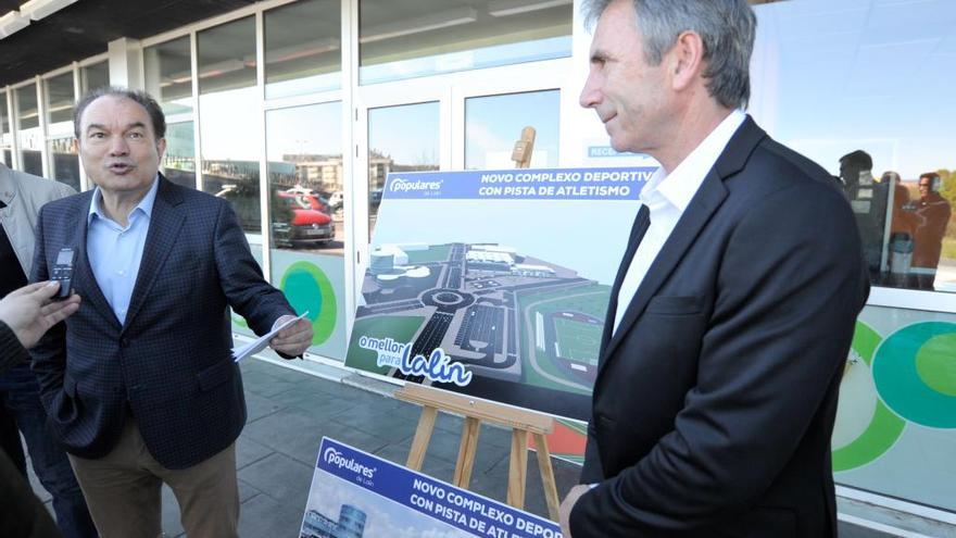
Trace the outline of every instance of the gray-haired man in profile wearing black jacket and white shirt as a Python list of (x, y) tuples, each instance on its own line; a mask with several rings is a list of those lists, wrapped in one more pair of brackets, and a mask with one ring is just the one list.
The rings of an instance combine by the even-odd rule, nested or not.
[(740, 110), (746, 0), (586, 9), (581, 104), (662, 166), (612, 291), (565, 536), (835, 536), (830, 435), (868, 293), (846, 199)]

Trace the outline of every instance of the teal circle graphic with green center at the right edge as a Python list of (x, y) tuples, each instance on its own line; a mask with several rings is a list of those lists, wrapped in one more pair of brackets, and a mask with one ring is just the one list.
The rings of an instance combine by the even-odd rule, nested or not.
[[(947, 393), (956, 383), (954, 335), (953, 323), (915, 323), (893, 333), (877, 350), (873, 381), (896, 414), (923, 426), (956, 428), (956, 396)], [(930, 378), (932, 385), (926, 381)]]

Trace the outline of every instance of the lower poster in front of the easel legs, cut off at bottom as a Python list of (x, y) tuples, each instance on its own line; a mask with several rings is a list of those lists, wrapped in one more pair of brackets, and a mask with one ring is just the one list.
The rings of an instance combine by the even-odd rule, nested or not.
[(549, 520), (323, 438), (302, 538), (561, 538)]

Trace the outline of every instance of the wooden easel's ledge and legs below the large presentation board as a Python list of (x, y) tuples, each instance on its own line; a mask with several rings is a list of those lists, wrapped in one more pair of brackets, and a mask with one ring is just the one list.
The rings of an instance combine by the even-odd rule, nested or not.
[(471, 470), (475, 466), (481, 422), (511, 428), (512, 453), (508, 462), (507, 503), (519, 510), (525, 508), (528, 435), (534, 436), (534, 443), (538, 448), (538, 468), (541, 471), (541, 485), (548, 501), (548, 513), (553, 521), (557, 521), (557, 485), (554, 481), (554, 468), (551, 466), (548, 440), (544, 438), (554, 428), (554, 418), (536, 411), (512, 408), (413, 383), (397, 390), (395, 398), (423, 406), (406, 463), (408, 468), (415, 471), (422, 471), (422, 463), (425, 461), (425, 452), (431, 440), (438, 412), (458, 413), (465, 417), (462, 442), (458, 446), (458, 459), (455, 461), (455, 475), (452, 480), (460, 488), (467, 489), (471, 481)]

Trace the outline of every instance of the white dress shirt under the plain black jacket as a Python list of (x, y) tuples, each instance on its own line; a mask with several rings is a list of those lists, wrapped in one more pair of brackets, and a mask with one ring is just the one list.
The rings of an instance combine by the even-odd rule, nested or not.
[(674, 168), (674, 172), (668, 175), (662, 166), (644, 185), (641, 190), (641, 203), (650, 211), (651, 226), (644, 234), (641, 245), (638, 246), (618, 290), (617, 312), (614, 318), (615, 333), (651, 264), (654, 263), (670, 233), (677, 226), (677, 222), (680, 221), (680, 216), (744, 118), (746, 115), (743, 111), (734, 110)]

